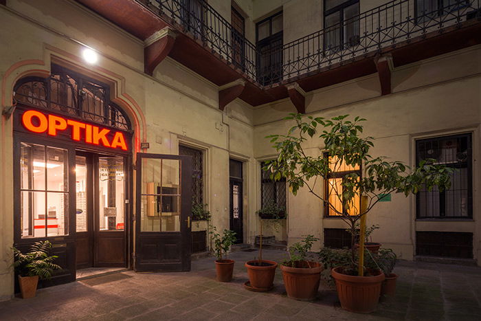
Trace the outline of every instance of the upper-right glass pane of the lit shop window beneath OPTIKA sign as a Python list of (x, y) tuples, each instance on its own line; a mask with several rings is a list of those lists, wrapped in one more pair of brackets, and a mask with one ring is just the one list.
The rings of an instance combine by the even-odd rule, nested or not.
[(47, 190), (69, 190), (68, 151), (47, 146), (47, 162), (39, 164), (47, 168)]

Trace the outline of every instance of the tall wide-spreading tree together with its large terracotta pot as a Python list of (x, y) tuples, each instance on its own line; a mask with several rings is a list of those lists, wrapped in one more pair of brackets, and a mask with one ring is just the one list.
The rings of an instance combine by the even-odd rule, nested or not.
[[(384, 274), (379, 269), (364, 269), (366, 214), (390, 193), (403, 192), (407, 196), (424, 186), (428, 189), (434, 186), (440, 190), (448, 188), (452, 170), (435, 164), (432, 159), (423, 160), (411, 169), (402, 162), (390, 162), (386, 157), (371, 157), (369, 151), (374, 146), (373, 138), (361, 137), (361, 122), (365, 120), (359, 117), (348, 120), (348, 115), (340, 115), (326, 120), (307, 116), (304, 121), (302, 114), (291, 114), (287, 120), (295, 123), (287, 135), (268, 136), (278, 151), (278, 157), (268, 162), (267, 168), (271, 170), (273, 179), (285, 177), (294, 195), (300, 188), (306, 188), (348, 224), (353, 235), (351, 262), (348, 266), (332, 270), (337, 294), (342, 307), (348, 311), (374, 311)], [(320, 135), (317, 134), (319, 129)], [(304, 143), (315, 135), (320, 138), (328, 157), (311, 156), (304, 151)], [(346, 167), (362, 168), (362, 171), (350, 172), (340, 179), (330, 177), (330, 173), (340, 172)], [(327, 195), (315, 187), (320, 181), (317, 178), (327, 183)], [(358, 221), (361, 225), (359, 256), (356, 258), (354, 234)]]

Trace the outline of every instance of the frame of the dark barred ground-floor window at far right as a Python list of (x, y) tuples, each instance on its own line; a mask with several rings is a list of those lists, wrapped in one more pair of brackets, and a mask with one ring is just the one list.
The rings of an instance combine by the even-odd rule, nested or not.
[[(458, 139), (466, 137), (467, 138), (467, 216), (466, 217), (447, 217), (445, 215), (441, 216), (441, 197), (440, 197), (440, 213), (437, 217), (420, 217), (420, 193), (416, 193), (416, 221), (472, 221), (473, 220), (473, 134), (472, 133), (458, 133), (454, 135), (439, 135), (436, 137), (419, 138), (414, 141), (414, 153), (415, 153), (415, 164), (419, 164), (421, 159), (418, 155), (418, 143), (419, 142), (429, 142), (429, 141), (442, 141), (447, 139)], [(447, 164), (449, 165), (449, 164)], [(448, 166), (451, 168), (456, 168), (456, 166)], [(444, 193), (444, 192), (443, 192)], [(446, 205), (444, 203), (444, 208)], [(444, 209), (444, 212), (446, 210)]]

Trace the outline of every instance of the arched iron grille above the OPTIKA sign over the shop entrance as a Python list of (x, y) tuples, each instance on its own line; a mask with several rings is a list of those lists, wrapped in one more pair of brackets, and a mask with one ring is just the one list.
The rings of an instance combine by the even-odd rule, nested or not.
[(51, 76), (47, 78), (26, 77), (19, 80), (14, 87), (14, 99), (26, 106), (74, 115), (124, 131), (131, 130), (127, 115), (110, 101), (109, 85), (59, 65), (52, 65)]

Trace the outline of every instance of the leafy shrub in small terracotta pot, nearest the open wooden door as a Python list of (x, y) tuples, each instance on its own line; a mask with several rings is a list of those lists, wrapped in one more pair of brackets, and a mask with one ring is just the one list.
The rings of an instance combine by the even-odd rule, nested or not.
[(222, 234), (216, 232), (216, 227), (212, 228), (212, 240), (214, 241), (214, 253), (216, 255), (216, 276), (219, 282), (230, 282), (232, 272), (234, 272), (234, 260), (227, 259), (227, 252), (236, 241), (236, 232), (224, 230)]

